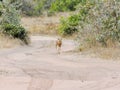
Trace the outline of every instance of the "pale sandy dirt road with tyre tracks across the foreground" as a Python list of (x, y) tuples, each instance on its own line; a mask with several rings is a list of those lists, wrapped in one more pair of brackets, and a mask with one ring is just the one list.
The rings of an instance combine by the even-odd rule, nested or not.
[(120, 62), (73, 53), (75, 44), (32, 36), (29, 46), (0, 51), (0, 90), (119, 90)]

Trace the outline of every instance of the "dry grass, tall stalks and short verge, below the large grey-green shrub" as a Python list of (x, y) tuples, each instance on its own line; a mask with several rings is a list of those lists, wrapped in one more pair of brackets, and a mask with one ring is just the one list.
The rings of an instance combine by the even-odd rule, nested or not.
[[(102, 43), (96, 41), (94, 35), (88, 33), (86, 36), (83, 39), (80, 38), (81, 41), (79, 42), (81, 45), (78, 47), (83, 55), (108, 60), (120, 60), (120, 43), (109, 39), (106, 42), (106, 46), (104, 46)], [(88, 38), (87, 41), (84, 38)]]

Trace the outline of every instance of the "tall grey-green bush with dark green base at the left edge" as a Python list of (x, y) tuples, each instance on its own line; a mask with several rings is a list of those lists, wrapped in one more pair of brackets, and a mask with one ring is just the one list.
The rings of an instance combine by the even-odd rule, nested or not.
[[(17, 3), (17, 1), (15, 2)], [(14, 38), (19, 38), (24, 43), (27, 42), (27, 32), (20, 25), (20, 11), (17, 10), (18, 6), (13, 1), (4, 1), (2, 5), (2, 20), (1, 20), (1, 29), (2, 32), (6, 35), (12, 36)]]

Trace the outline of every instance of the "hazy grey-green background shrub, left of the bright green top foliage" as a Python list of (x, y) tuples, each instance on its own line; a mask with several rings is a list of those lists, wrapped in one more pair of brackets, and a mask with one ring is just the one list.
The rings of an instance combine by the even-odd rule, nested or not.
[(23, 0), (22, 13), (27, 16), (39, 16), (47, 12), (53, 0)]

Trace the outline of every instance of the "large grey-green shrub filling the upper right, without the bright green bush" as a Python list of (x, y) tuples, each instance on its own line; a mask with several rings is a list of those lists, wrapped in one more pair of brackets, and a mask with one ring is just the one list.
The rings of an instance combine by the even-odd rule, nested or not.
[(80, 20), (78, 41), (80, 45), (108, 46), (120, 42), (120, 1), (87, 2), (78, 8)]

